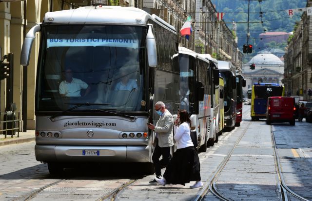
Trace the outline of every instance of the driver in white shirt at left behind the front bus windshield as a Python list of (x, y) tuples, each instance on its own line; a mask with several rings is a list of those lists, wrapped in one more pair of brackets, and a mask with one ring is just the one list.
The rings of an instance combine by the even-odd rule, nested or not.
[(61, 97), (81, 97), (81, 89), (85, 89), (84, 96), (90, 92), (90, 86), (77, 78), (73, 78), (71, 69), (66, 69), (65, 80), (59, 84), (59, 94)]

